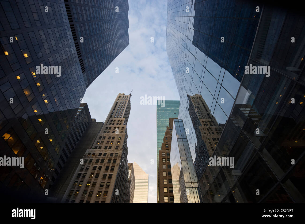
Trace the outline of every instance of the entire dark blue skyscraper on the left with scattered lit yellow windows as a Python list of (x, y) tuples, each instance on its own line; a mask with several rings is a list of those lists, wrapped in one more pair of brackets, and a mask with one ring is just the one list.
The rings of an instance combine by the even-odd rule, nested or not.
[(77, 143), (86, 87), (128, 44), (128, 3), (0, 2), (0, 155), (26, 161), (2, 170), (0, 187), (43, 200)]

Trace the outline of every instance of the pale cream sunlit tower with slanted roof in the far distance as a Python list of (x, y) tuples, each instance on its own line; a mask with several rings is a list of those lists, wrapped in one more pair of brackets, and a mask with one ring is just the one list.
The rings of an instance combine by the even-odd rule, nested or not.
[(149, 174), (136, 163), (133, 163), (135, 172), (135, 194), (133, 203), (148, 203), (148, 177)]

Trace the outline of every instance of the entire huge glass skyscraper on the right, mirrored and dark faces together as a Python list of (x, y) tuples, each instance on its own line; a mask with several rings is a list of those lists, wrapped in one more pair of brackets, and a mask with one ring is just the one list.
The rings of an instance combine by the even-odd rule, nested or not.
[[(203, 202), (304, 202), (304, 16), (219, 2), (168, 1), (167, 13), (178, 117)], [(244, 74), (250, 65), (270, 66), (270, 76)], [(235, 167), (208, 165), (214, 156)]]

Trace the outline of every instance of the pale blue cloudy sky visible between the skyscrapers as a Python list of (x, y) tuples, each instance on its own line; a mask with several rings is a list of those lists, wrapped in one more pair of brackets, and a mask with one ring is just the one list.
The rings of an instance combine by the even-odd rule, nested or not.
[[(127, 124), (128, 162), (137, 162), (149, 174), (148, 202), (152, 203), (157, 201), (156, 105), (140, 105), (140, 97), (180, 100), (165, 49), (166, 16), (167, 1), (129, 1), (129, 45), (84, 95), (91, 117), (104, 122), (117, 94), (129, 94), (133, 89)], [(115, 73), (116, 67), (119, 73)]]

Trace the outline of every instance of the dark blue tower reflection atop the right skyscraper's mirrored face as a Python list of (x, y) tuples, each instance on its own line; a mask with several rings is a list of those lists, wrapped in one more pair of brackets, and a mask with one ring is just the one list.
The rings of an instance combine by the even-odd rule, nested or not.
[(260, 18), (257, 6), (262, 9), (261, 4), (242, 0), (195, 0), (193, 5), (188, 34), (192, 44), (239, 82), (245, 70), (240, 65), (248, 62)]

